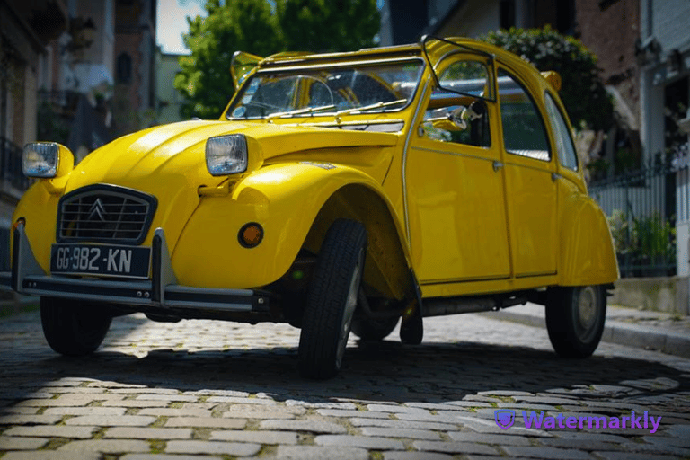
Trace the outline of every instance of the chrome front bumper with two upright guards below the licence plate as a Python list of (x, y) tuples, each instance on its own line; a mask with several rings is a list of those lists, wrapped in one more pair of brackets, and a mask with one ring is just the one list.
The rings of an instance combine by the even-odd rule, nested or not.
[(270, 312), (268, 293), (252, 289), (193, 288), (177, 284), (162, 228), (151, 244), (151, 279), (110, 280), (50, 276), (36, 261), (23, 224), (13, 233), (12, 271), (0, 272), (0, 288), (20, 294), (54, 296), (120, 305), (227, 313)]

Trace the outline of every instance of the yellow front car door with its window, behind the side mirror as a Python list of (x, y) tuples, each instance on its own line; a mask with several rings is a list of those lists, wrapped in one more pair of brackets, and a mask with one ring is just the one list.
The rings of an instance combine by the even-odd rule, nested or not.
[[(485, 57), (465, 53), (448, 61), (439, 72), (442, 87), (476, 95), (492, 88)], [(465, 129), (432, 121), (474, 101), (435, 85), (423, 102), (425, 121), (411, 134), (404, 171), (407, 224), (422, 284), (510, 275), (497, 104), (484, 102), (485, 113)]]

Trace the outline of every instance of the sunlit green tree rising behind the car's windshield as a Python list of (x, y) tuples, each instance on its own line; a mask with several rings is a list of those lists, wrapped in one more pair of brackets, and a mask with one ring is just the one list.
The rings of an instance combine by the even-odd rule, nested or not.
[(376, 0), (207, 0), (206, 18), (189, 19), (174, 86), (186, 102), (184, 118), (217, 118), (234, 93), (234, 51), (258, 56), (279, 51), (345, 51), (373, 45)]

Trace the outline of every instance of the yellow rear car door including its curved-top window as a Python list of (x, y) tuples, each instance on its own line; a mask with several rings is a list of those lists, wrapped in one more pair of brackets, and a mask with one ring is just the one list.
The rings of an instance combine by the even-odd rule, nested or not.
[(558, 194), (543, 112), (517, 75), (500, 67), (498, 80), (514, 273), (550, 275), (558, 253)]

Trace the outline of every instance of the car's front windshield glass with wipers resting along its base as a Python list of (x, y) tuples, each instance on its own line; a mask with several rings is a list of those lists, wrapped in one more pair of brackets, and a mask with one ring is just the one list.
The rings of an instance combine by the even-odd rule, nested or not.
[(263, 70), (252, 75), (228, 119), (400, 111), (412, 100), (420, 59), (376, 65)]

